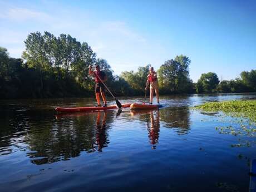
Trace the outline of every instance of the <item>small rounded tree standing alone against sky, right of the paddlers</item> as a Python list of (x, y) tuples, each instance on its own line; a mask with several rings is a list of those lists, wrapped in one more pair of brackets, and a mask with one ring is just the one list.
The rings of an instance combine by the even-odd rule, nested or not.
[(198, 91), (198, 93), (212, 93), (215, 91), (215, 88), (218, 84), (219, 78), (216, 73), (203, 73), (198, 80), (196, 90)]

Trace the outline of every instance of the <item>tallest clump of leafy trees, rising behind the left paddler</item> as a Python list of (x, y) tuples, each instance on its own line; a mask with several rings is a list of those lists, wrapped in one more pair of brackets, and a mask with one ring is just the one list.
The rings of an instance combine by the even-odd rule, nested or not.
[[(88, 66), (95, 63), (96, 53), (86, 42), (80, 43), (70, 35), (55, 37), (49, 32), (44, 35), (36, 32), (28, 35), (25, 45), (26, 51), (22, 57), (29, 68), (35, 68), (40, 73), (41, 96), (44, 93), (51, 95), (51, 82), (56, 80), (65, 90), (68, 83), (75, 81), (80, 87), (91, 90)], [(44, 82), (47, 83), (46, 87)], [(63, 82), (67, 85), (63, 85)]]

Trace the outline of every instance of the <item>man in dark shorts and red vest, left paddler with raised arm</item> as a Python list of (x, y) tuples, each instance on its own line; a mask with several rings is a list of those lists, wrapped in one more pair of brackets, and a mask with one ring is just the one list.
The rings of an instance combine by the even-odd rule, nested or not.
[[(103, 83), (101, 82), (101, 80), (103, 82), (107, 81), (107, 76), (105, 74), (105, 72), (100, 70), (100, 66), (96, 65), (95, 66), (96, 71), (92, 71), (91, 66), (89, 66), (89, 75), (94, 76), (95, 77), (95, 95), (96, 95), (96, 100), (98, 105), (96, 107), (101, 107), (100, 104), (100, 93), (101, 93), (101, 97), (102, 100), (104, 101), (104, 107), (107, 106), (107, 101), (106, 101), (106, 96), (105, 96), (105, 87), (103, 85)], [(100, 77), (100, 78), (99, 78)]]

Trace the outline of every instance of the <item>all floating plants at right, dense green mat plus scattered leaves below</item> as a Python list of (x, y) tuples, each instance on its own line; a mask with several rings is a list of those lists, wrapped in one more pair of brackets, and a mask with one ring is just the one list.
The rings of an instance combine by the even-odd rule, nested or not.
[[(234, 125), (218, 126), (215, 130), (219, 134), (230, 134), (234, 136), (247, 136), (256, 137), (256, 100), (247, 101), (223, 101), (223, 102), (206, 102), (203, 105), (196, 106), (194, 109), (203, 110), (207, 112), (223, 112), (224, 114), (218, 115), (221, 121), (227, 121)], [(232, 117), (232, 119), (227, 118)], [(249, 121), (248, 121), (249, 120)], [(240, 126), (237, 126), (240, 125)], [(249, 139), (249, 138), (248, 138)], [(255, 141), (239, 139), (237, 144), (230, 145), (231, 147), (250, 147), (255, 144)]]

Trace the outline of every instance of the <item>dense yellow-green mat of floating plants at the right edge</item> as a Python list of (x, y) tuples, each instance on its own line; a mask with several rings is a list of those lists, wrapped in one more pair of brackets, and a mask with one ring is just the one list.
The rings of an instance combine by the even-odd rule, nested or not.
[(194, 109), (204, 111), (223, 111), (232, 117), (245, 117), (256, 122), (256, 100), (206, 102), (195, 106)]

